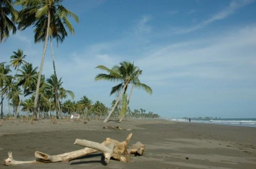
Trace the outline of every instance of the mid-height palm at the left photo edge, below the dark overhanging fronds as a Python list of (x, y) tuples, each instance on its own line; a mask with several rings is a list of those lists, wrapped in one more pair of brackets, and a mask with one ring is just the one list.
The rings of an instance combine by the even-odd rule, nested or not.
[(5, 90), (5, 82), (10, 79), (9, 73), (10, 65), (6, 65), (5, 63), (0, 64), (0, 88), (1, 88), (1, 118), (3, 119), (3, 100), (4, 100), (4, 94), (6, 93)]

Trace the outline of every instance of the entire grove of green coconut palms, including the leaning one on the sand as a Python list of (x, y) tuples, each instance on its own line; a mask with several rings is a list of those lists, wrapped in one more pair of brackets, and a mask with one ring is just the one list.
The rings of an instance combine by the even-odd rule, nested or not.
[[(9, 36), (10, 32), (15, 34), (16, 27), (24, 30), (28, 27), (34, 27), (35, 43), (43, 42), (43, 54), (40, 68), (33, 67), (31, 63), (25, 61), (26, 55), (21, 49), (13, 52), (10, 56), (10, 65), (7, 62), (0, 63), (0, 88), (1, 88), (1, 118), (3, 118), (3, 100), (8, 102), (9, 116), (17, 117), (20, 108), (26, 112), (28, 117), (33, 113), (33, 117), (51, 117), (55, 112), (56, 118), (63, 118), (63, 115), (71, 113), (80, 113), (83, 118), (106, 117), (106, 122), (110, 115), (123, 120), (125, 115), (133, 118), (158, 118), (157, 114), (152, 112), (146, 113), (141, 109), (133, 112), (128, 107), (133, 88), (141, 88), (151, 94), (152, 89), (144, 83), (141, 83), (139, 76), (142, 71), (132, 63), (124, 61), (120, 65), (115, 65), (109, 69), (105, 66), (96, 68), (107, 71), (107, 74), (100, 73), (95, 80), (108, 80), (120, 82), (114, 86), (110, 92), (118, 93), (118, 98), (113, 101), (112, 108), (108, 113), (108, 108), (100, 101), (94, 104), (92, 101), (83, 96), (77, 102), (66, 100), (68, 96), (72, 99), (74, 94), (62, 86), (62, 79), (57, 76), (53, 44), (63, 42), (68, 32), (74, 34), (74, 28), (69, 21), (73, 18), (77, 23), (78, 16), (61, 5), (63, 0), (0, 0), (0, 43), (3, 43)], [(14, 5), (21, 6), (22, 10), (17, 11)], [(42, 74), (45, 53), (50, 39), (51, 55), (53, 61), (53, 75), (45, 79)], [(13, 73), (12, 73), (13, 72)], [(131, 91), (128, 95), (128, 85), (131, 85)], [(10, 111), (12, 107), (13, 113)], [(138, 115), (139, 114), (139, 115)]]

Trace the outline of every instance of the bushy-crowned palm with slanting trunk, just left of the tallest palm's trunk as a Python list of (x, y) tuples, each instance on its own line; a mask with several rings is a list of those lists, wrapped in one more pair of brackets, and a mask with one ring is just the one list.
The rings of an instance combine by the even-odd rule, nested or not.
[(22, 102), (22, 99), (25, 95), (26, 90), (28, 92), (33, 91), (33, 88), (35, 86), (35, 82), (37, 80), (36, 75), (38, 67), (35, 67), (35, 69), (33, 69), (33, 65), (30, 63), (26, 63), (22, 66), (20, 71), (20, 74), (17, 74), (16, 76), (18, 77), (18, 86), (22, 85), (23, 86), (23, 94), (20, 98), (20, 102), (18, 104), (18, 108), (16, 111), (16, 116), (18, 116), (18, 111), (19, 111), (19, 107), (20, 107), (20, 103)]

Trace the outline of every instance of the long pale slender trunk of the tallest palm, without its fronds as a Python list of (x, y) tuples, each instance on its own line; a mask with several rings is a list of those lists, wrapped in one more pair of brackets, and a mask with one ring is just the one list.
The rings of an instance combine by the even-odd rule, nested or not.
[(46, 52), (48, 37), (49, 37), (49, 27), (50, 27), (50, 12), (48, 12), (47, 29), (46, 29), (46, 35), (45, 35), (45, 44), (44, 44), (44, 47), (43, 47), (43, 55), (42, 55), (41, 64), (40, 64), (40, 71), (38, 73), (38, 82), (36, 84), (36, 90), (35, 90), (35, 101), (34, 101), (33, 115), (34, 115), (34, 118), (36, 120), (38, 120), (38, 118), (37, 118), (37, 108), (38, 108), (39, 87), (40, 87), (40, 81), (41, 81), (41, 74), (42, 74), (42, 71), (43, 71), (43, 62), (45, 61), (45, 52)]

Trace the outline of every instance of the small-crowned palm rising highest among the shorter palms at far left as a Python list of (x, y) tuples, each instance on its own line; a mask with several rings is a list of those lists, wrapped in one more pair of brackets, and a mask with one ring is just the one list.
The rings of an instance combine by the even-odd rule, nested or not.
[[(13, 51), (13, 54), (14, 54), (14, 55), (12, 55), (12, 56), (10, 57), (10, 59), (12, 59), (12, 60), (10, 61), (10, 63), (13, 65), (13, 67), (14, 67), (15, 70), (17, 69), (17, 71), (16, 71), (16, 74), (17, 74), (17, 73), (18, 73), (18, 70), (19, 70), (19, 66), (20, 66), (21, 64), (26, 63), (26, 61), (24, 61), (24, 59), (25, 59), (25, 57), (26, 57), (27, 55), (23, 55), (23, 50), (21, 50), (21, 49), (18, 49), (17, 52), (16, 52), (16, 51)], [(15, 75), (16, 75), (16, 74), (15, 74)]]

